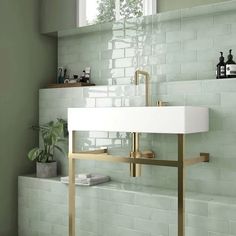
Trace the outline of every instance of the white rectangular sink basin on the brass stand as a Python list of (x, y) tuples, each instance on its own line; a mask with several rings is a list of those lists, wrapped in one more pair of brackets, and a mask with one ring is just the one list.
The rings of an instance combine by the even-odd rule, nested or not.
[(188, 134), (208, 131), (209, 115), (194, 106), (69, 108), (68, 129)]

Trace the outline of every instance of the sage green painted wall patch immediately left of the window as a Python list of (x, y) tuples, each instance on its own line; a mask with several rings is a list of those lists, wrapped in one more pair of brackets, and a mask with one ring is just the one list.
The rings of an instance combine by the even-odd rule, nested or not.
[(41, 32), (76, 27), (76, 0), (41, 0)]

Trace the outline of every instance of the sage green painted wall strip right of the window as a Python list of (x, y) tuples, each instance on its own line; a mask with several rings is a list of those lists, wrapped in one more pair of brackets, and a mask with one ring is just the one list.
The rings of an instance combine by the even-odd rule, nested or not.
[(157, 0), (157, 11), (164, 12), (225, 1), (228, 0)]

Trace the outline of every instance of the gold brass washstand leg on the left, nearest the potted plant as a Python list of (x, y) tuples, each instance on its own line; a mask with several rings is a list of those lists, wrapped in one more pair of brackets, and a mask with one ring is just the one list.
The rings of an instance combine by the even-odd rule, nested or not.
[(75, 236), (75, 160), (71, 156), (74, 133), (69, 132), (69, 236)]

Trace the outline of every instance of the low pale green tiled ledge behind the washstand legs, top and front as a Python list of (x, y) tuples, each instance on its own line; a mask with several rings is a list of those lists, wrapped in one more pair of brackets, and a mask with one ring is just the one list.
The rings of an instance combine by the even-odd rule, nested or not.
[[(79, 236), (176, 236), (177, 199), (170, 190), (110, 183), (79, 187)], [(68, 235), (67, 186), (19, 177), (19, 236)], [(236, 235), (235, 198), (187, 194), (187, 236)]]

